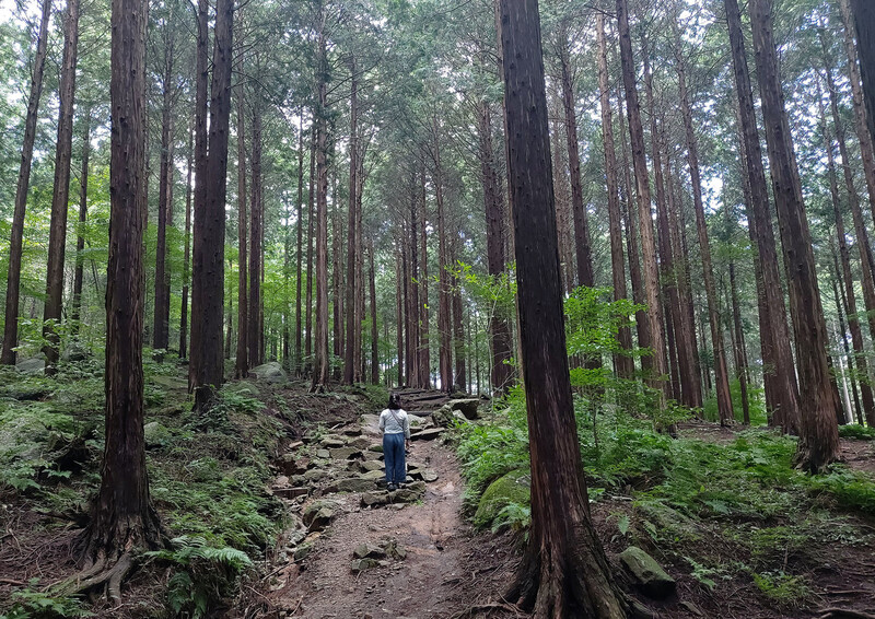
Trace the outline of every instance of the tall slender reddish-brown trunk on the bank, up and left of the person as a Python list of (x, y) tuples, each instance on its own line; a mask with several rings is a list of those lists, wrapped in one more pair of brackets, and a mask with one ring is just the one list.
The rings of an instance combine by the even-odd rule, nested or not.
[(328, 52), (325, 34), (325, 7), (318, 1), (316, 24), (318, 48), (316, 67), (316, 359), (311, 390), (323, 392), (328, 385), (328, 164), (327, 97)]

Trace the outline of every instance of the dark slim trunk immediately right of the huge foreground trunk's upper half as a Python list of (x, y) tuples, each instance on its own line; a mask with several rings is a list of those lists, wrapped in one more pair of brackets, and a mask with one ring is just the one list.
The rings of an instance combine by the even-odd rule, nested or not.
[(559, 66), (562, 71), (562, 110), (565, 116), (565, 143), (568, 144), (568, 166), (571, 178), (571, 213), (574, 218), (574, 256), (578, 260), (578, 282), (592, 288), (593, 257), (590, 249), (590, 230), (586, 221), (586, 207), (583, 205), (581, 184), (581, 154), (578, 144), (578, 117), (574, 112), (574, 79), (571, 74), (571, 57), (565, 23), (559, 26)]

